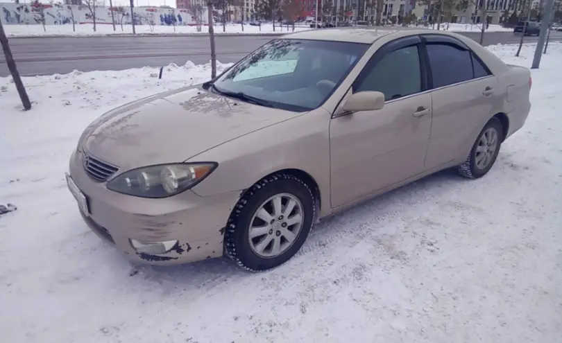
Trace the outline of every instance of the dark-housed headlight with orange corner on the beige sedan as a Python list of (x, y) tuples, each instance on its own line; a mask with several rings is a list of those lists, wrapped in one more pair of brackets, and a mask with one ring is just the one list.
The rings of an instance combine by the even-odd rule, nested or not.
[(108, 183), (108, 189), (137, 197), (169, 197), (201, 182), (216, 163), (164, 164), (129, 170)]

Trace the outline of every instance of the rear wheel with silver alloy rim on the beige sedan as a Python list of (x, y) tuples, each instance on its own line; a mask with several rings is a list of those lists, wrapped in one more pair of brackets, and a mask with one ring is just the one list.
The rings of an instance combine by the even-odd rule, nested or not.
[(500, 152), (502, 137), (502, 123), (497, 118), (491, 118), (478, 134), (466, 161), (457, 167), (459, 174), (470, 179), (486, 175)]

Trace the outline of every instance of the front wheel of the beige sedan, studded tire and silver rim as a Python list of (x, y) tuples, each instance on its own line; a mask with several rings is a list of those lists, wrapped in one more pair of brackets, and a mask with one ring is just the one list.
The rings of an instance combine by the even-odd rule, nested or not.
[(309, 186), (291, 174), (266, 177), (244, 193), (225, 231), (225, 252), (253, 272), (287, 262), (303, 246), (315, 218)]

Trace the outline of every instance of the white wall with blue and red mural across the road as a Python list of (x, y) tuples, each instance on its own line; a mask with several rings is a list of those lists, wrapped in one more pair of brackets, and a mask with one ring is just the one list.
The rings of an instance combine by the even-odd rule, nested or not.
[[(62, 5), (50, 3), (43, 4), (43, 12), (46, 25), (92, 24), (92, 13), (86, 6)], [(42, 24), (41, 10), (37, 6), (22, 3), (0, 3), (0, 20), (2, 24)], [(195, 25), (194, 15), (188, 10), (176, 8), (138, 7), (134, 8), (133, 16), (130, 17), (129, 7), (105, 7), (96, 8), (96, 24), (111, 24), (111, 13), (115, 24), (131, 24), (131, 20), (137, 25)], [(203, 22), (207, 17), (206, 11), (201, 14)]]

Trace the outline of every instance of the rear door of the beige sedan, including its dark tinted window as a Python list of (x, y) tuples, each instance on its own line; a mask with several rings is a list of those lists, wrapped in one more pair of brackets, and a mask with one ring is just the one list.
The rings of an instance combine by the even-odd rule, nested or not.
[(422, 37), (429, 61), (433, 121), (425, 167), (463, 160), (502, 101), (497, 80), (475, 53), (445, 35)]

